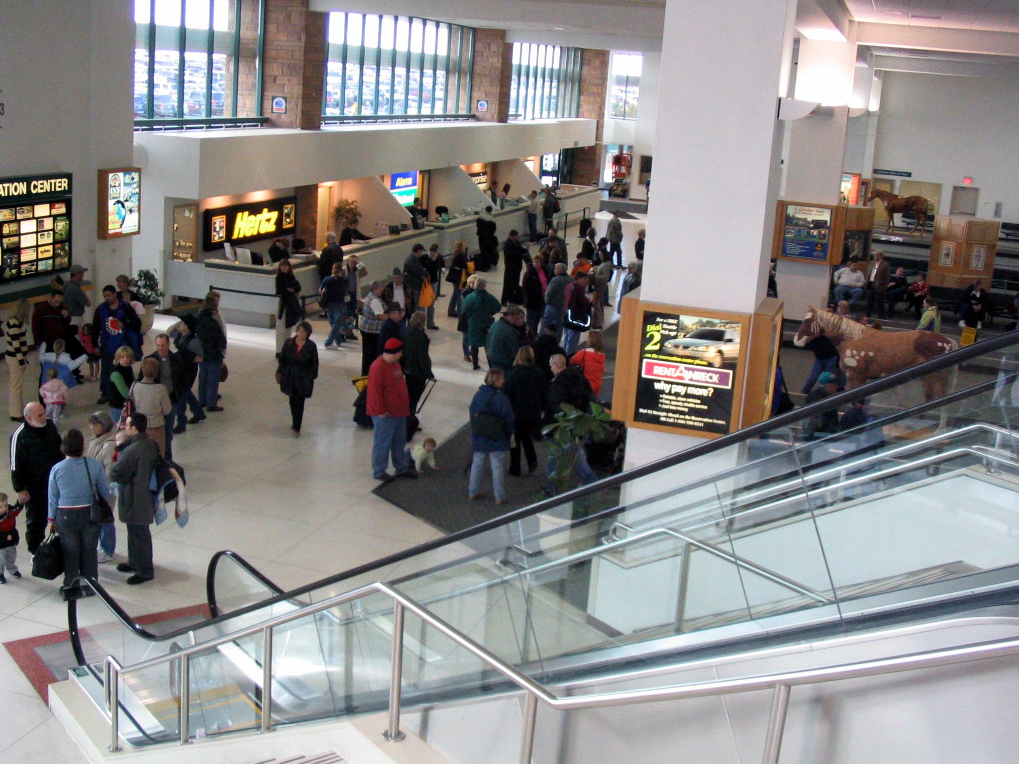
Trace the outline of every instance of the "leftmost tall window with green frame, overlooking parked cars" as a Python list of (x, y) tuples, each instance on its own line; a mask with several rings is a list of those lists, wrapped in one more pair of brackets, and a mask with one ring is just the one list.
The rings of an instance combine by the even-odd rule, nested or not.
[(135, 117), (253, 116), (264, 0), (135, 0)]

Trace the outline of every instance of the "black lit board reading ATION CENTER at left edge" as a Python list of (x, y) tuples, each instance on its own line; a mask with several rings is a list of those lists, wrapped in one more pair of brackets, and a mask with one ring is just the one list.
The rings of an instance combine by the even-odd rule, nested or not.
[(70, 267), (71, 174), (0, 180), (0, 281)]

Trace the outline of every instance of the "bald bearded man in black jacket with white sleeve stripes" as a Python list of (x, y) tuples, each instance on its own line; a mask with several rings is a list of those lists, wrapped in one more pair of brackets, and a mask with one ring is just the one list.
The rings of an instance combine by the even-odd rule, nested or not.
[(31, 554), (46, 535), (50, 470), (63, 459), (60, 433), (42, 403), (24, 406), (24, 422), (10, 436), (10, 483), (24, 504), (24, 540)]

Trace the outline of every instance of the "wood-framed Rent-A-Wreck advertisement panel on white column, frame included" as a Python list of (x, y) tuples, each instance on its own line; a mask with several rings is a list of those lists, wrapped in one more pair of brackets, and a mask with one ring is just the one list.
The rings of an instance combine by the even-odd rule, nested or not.
[(739, 429), (749, 330), (747, 314), (626, 301), (612, 416), (701, 438)]

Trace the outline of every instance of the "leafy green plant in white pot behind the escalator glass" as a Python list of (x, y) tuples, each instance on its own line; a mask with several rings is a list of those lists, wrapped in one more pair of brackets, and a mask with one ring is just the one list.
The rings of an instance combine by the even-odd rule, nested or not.
[[(564, 403), (561, 407), (562, 411), (555, 415), (552, 424), (546, 425), (541, 431), (548, 438), (548, 455), (555, 462), (555, 470), (548, 476), (546, 497), (557, 496), (573, 487), (574, 466), (580, 449), (586, 443), (604, 438), (611, 430), (612, 418), (600, 403), (592, 402), (587, 412), (569, 403)], [(590, 509), (590, 503), (581, 500), (565, 505), (556, 514), (542, 512), (538, 515), (539, 532), (544, 534), (546, 531), (565, 528), (574, 521), (585, 517)], [(580, 530), (574, 534), (571, 531), (569, 536), (565, 540), (559, 534), (551, 534), (543, 538), (539, 545), (549, 558), (561, 557), (579, 551), (585, 545), (584, 540), (589, 533)]]

